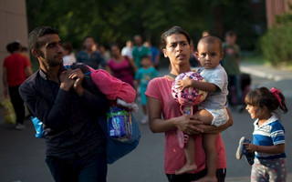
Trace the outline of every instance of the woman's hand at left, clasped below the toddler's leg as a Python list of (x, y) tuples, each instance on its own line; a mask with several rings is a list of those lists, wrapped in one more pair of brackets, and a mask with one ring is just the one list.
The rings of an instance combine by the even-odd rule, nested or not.
[(179, 116), (176, 117), (176, 127), (183, 131), (187, 135), (194, 135), (198, 133), (203, 133), (203, 129), (197, 127), (196, 125), (202, 125), (203, 122), (199, 121), (196, 116)]

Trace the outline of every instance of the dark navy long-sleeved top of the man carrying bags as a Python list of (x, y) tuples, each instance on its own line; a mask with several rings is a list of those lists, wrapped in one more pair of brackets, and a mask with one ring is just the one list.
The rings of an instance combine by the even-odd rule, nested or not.
[[(89, 73), (88, 66), (83, 64), (73, 64), (71, 68)], [(61, 66), (60, 70), (63, 69)], [(78, 96), (73, 88), (66, 92), (39, 69), (19, 88), (32, 115), (45, 125), (47, 156), (85, 157), (105, 146), (106, 137), (98, 117), (106, 116), (109, 101), (94, 86), (90, 76), (84, 77), (82, 85), (85, 88), (83, 96)]]

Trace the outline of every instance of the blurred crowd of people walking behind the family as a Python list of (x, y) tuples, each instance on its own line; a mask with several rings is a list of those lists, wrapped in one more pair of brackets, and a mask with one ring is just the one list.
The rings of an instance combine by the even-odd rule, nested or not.
[[(211, 34), (209, 31), (203, 31), (202, 36), (206, 35)], [(242, 108), (244, 98), (242, 93), (245, 92), (245, 88), (241, 86), (239, 70), (240, 48), (236, 45), (236, 38), (235, 32), (226, 32), (223, 45), (224, 59), (221, 61), (221, 65), (224, 66), (228, 74), (228, 91), (231, 93), (228, 95), (228, 102), (233, 108), (238, 109)], [(199, 67), (200, 62), (195, 55), (196, 45), (193, 41), (192, 45), (193, 52), (190, 55), (190, 65)], [(99, 45), (99, 43), (94, 40), (93, 36), (87, 35), (84, 37), (80, 46), (82, 46), (82, 50), (77, 51), (78, 48), (73, 47), (69, 41), (62, 43), (63, 64), (84, 63), (94, 69), (104, 69), (108, 71), (110, 75), (133, 86), (137, 91), (137, 102), (141, 102), (141, 108), (144, 113), (143, 118), (141, 118), (141, 123), (147, 123), (147, 98), (144, 92), (147, 89), (149, 81), (158, 76), (160, 66), (162, 61), (164, 61), (159, 46), (151, 45), (150, 40), (144, 41), (141, 35), (133, 35), (133, 38), (126, 41), (125, 44), (110, 43), (108, 46)], [(26, 77), (33, 74), (33, 70), (36, 71), (37, 63), (35, 63), (35, 66), (32, 65), (27, 48), (22, 47), (17, 41), (9, 43), (6, 48), (7, 51), (11, 53), (11, 56), (5, 58), (5, 64), (3, 66), (5, 68), (4, 94), (5, 97), (8, 97), (8, 88), (11, 90), (13, 89), (12, 86), (15, 86), (12, 82), (16, 82), (17, 80), (18, 83), (16, 86), (19, 86), (25, 81)], [(20, 61), (15, 57), (22, 57), (22, 59)], [(11, 65), (16, 59), (22, 64), (9, 67), (9, 64)], [(169, 69), (171, 69), (171, 66), (169, 66)], [(19, 73), (22, 73), (21, 79), (16, 77)], [(25, 118), (23, 110), (25, 108), (18, 109), (18, 107), (23, 104), (14, 101), (16, 96), (13, 94), (13, 91), (10, 91), (10, 97), (18, 118), (16, 128), (23, 129), (24, 126), (22, 124)], [(20, 112), (18, 110), (22, 111)]]

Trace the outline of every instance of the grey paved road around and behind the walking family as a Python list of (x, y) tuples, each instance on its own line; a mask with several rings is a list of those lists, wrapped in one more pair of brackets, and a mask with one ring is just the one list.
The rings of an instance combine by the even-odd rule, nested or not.
[[(259, 68), (256, 66), (244, 65), (244, 69), (253, 74), (252, 86), (278, 86), (283, 89), (287, 96), (287, 106), (291, 110), (292, 101), (292, 73), (288, 72), (279, 80), (275, 78), (267, 79), (266, 76), (260, 76)], [(267, 68), (263, 72), (269, 72)], [(275, 70), (274, 70), (275, 71)], [(161, 75), (167, 72), (161, 70)], [(255, 74), (256, 73), (256, 74)], [(277, 72), (282, 73), (282, 72)], [(274, 73), (274, 76), (276, 73)], [(0, 109), (0, 124), (3, 123), (2, 109)], [(234, 126), (228, 128), (222, 133), (226, 148), (227, 157), (227, 178), (226, 181), (244, 182), (249, 181), (250, 167), (245, 160), (235, 159), (235, 150), (238, 139), (241, 136), (252, 137), (253, 121), (246, 113), (232, 111), (234, 116)], [(136, 118), (141, 117), (141, 111), (135, 114)], [(283, 125), (287, 130), (287, 167), (288, 173), (292, 173), (292, 138), (291, 112), (282, 116)], [(0, 125), (0, 181), (1, 182), (51, 182), (53, 181), (45, 160), (44, 140), (34, 137), (34, 129), (29, 120), (26, 120), (26, 130), (16, 131), (13, 126), (5, 124)], [(141, 125), (141, 143), (130, 155), (121, 158), (119, 161), (109, 166), (109, 182), (166, 182), (167, 179), (163, 173), (163, 134), (152, 134), (149, 126)], [(287, 181), (292, 181), (291, 176)]]

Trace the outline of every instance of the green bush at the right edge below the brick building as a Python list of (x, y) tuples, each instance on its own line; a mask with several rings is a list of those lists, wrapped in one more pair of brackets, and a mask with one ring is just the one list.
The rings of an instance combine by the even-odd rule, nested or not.
[[(288, 20), (287, 15), (283, 17)], [(292, 21), (277, 21), (277, 23), (278, 25), (273, 26), (260, 38), (263, 56), (274, 66), (291, 64)]]

